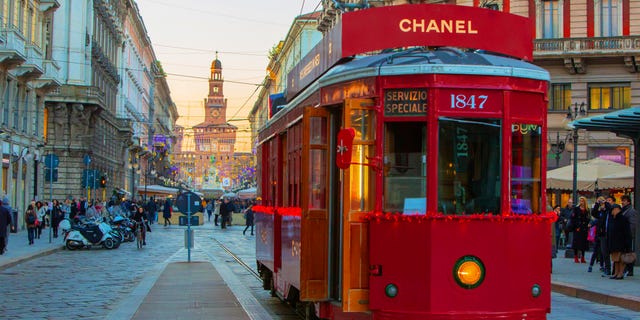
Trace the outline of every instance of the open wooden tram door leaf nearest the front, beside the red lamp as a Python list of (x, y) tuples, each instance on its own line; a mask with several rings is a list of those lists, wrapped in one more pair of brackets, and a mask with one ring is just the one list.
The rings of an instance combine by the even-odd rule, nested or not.
[(351, 165), (343, 171), (342, 309), (368, 310), (369, 254), (365, 213), (374, 209), (376, 118), (372, 99), (346, 99), (344, 128), (353, 128)]

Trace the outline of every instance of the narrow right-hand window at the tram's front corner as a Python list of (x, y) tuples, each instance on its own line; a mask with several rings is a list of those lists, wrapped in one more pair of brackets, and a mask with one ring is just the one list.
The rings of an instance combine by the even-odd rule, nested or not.
[(540, 213), (541, 127), (518, 123), (511, 126), (511, 211)]

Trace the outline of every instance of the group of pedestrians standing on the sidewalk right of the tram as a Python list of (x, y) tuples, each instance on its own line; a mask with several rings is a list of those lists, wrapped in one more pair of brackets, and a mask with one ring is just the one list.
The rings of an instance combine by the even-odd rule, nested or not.
[(585, 264), (585, 252), (593, 246), (587, 272), (592, 272), (594, 264), (599, 262), (602, 276), (615, 280), (633, 276), (634, 263), (625, 263), (623, 255), (635, 252), (637, 223), (631, 197), (623, 195), (620, 199), (621, 205), (613, 196), (601, 196), (590, 206), (587, 198), (579, 197), (576, 206), (569, 199), (564, 208), (560, 205), (553, 208), (558, 215), (556, 245), (570, 239), (567, 248), (570, 246), (573, 250), (574, 262)]

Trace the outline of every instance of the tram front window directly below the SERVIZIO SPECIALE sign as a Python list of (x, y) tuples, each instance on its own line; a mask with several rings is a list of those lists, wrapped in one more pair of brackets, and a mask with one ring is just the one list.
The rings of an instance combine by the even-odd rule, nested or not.
[(388, 122), (384, 145), (384, 210), (425, 214), (426, 125)]

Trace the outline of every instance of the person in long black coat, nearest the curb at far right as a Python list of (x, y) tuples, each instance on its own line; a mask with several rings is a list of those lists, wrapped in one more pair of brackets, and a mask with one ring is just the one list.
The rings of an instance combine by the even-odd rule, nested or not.
[(611, 209), (611, 218), (607, 228), (607, 244), (611, 253), (611, 262), (614, 263), (615, 273), (609, 279), (622, 280), (624, 278), (625, 263), (622, 254), (631, 252), (631, 225), (629, 219), (620, 214), (622, 207), (614, 204)]

